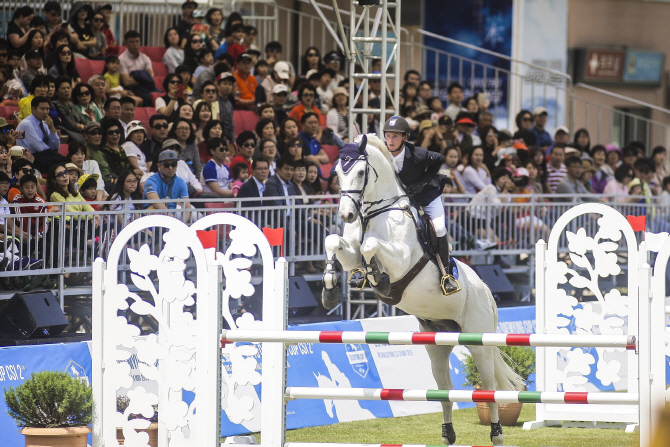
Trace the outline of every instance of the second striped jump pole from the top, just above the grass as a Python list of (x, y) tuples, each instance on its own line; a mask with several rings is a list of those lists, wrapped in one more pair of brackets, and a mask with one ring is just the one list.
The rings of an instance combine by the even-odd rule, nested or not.
[(497, 402), (499, 404), (604, 404), (631, 405), (638, 393), (486, 391), (486, 390), (401, 390), (387, 388), (287, 387), (288, 399), (402, 400), (414, 402)]

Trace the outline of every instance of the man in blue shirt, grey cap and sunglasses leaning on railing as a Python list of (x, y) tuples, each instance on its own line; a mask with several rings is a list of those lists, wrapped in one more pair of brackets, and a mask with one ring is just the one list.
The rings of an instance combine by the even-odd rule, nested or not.
[[(177, 176), (178, 164), (179, 155), (173, 150), (166, 149), (158, 155), (158, 169), (144, 183), (142, 199), (154, 202), (148, 206), (148, 209), (174, 210), (178, 208), (177, 202), (162, 202), (161, 200), (164, 199), (183, 199), (184, 208), (192, 208), (191, 203), (188, 201), (188, 186), (186, 185), (186, 181)], [(183, 221), (188, 222), (189, 218), (190, 213), (186, 212)]]

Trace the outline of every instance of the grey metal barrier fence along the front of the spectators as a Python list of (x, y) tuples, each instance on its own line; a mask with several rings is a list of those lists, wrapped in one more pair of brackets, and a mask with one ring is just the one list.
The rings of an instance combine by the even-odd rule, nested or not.
[[(503, 202), (499, 199), (503, 197)], [(505, 200), (509, 199), (509, 202)], [(453, 238), (455, 256), (528, 255), (532, 258), (533, 246), (538, 239), (548, 236), (549, 229), (568, 208), (582, 200), (605, 200), (596, 196), (559, 195), (512, 195), (491, 196), (481, 203), (470, 203), (472, 196), (444, 196), (447, 228)], [(332, 233), (341, 233), (342, 221), (337, 214), (337, 197), (311, 196), (313, 203), (301, 203), (301, 199), (287, 199), (286, 206), (245, 207), (253, 199), (226, 199), (204, 207), (204, 201), (192, 199), (191, 210), (183, 208), (183, 200), (175, 200), (180, 209), (170, 214), (184, 222), (193, 222), (197, 217), (214, 212), (233, 212), (249, 218), (261, 227), (285, 228), (284, 256), (292, 264), (301, 261), (324, 259), (324, 239)], [(551, 201), (550, 201), (551, 200)], [(643, 198), (631, 198), (641, 201)], [(166, 201), (163, 201), (165, 203)], [(211, 199), (210, 199), (211, 202)], [(101, 208), (111, 202), (89, 202)], [(148, 210), (150, 201), (113, 202), (114, 209), (101, 209), (95, 214), (70, 212), (64, 207), (51, 208), (47, 213), (25, 214), (20, 209), (26, 205), (9, 205), (3, 236), (4, 249), (14, 261), (32, 259), (39, 265), (23, 262), (8, 262), (2, 267), (1, 276), (23, 276), (26, 274), (64, 275), (66, 273), (90, 272), (92, 261), (104, 256), (115, 236), (129, 222), (148, 214), (160, 214), (162, 210)], [(630, 202), (610, 202), (622, 214), (646, 215), (647, 230), (670, 232), (670, 208), (652, 202), (649, 205)], [(49, 206), (58, 207), (52, 203)], [(65, 222), (65, 224), (62, 224)], [(574, 231), (595, 228), (598, 219), (584, 215), (573, 224)], [(15, 228), (15, 230), (12, 230)], [(229, 242), (229, 228), (217, 228), (217, 249)], [(144, 243), (160, 243), (163, 230), (147, 230), (137, 236), (131, 244), (139, 248)], [(483, 251), (482, 241), (489, 249)], [(562, 236), (561, 247), (568, 247), (569, 240)], [(0, 252), (0, 253), (2, 253)], [(278, 249), (276, 255), (278, 255)], [(7, 256), (4, 256), (7, 257)], [(532, 259), (531, 259), (532, 262)], [(121, 263), (122, 267), (127, 262)], [(530, 271), (530, 270), (529, 270)]]

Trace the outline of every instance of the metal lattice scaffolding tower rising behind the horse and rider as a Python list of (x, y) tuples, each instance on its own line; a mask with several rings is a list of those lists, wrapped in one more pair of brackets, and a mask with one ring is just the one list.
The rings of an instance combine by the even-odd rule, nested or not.
[[(333, 10), (337, 17), (339, 32), (343, 36), (341, 41), (324, 17), (326, 28), (333, 34), (349, 61), (349, 141), (352, 141), (354, 115), (362, 115), (361, 132), (366, 133), (368, 115), (373, 115), (373, 118), (379, 117), (380, 127), (382, 127), (390, 112), (386, 109), (387, 106), (392, 107), (391, 114), (399, 114), (400, 1), (351, 0), (347, 38), (337, 0), (333, 0)], [(317, 12), (322, 14), (316, 1), (310, 0), (310, 2)], [(390, 49), (389, 44), (393, 45)], [(379, 59), (379, 56), (375, 54), (379, 49), (381, 50), (381, 69), (380, 73), (374, 73), (372, 64), (375, 59)], [(357, 68), (360, 71), (357, 72)], [(374, 106), (371, 106), (369, 82), (377, 79), (381, 81), (381, 93), (378, 106), (377, 101), (374, 101)], [(356, 81), (360, 81), (358, 89)], [(390, 104), (387, 99), (390, 100)]]

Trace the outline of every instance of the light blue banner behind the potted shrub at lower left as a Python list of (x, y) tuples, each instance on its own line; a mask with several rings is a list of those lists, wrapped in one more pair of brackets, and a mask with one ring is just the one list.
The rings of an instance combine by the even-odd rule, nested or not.
[[(0, 389), (21, 385), (34, 372), (67, 371), (91, 383), (91, 352), (87, 342), (0, 348)], [(22, 447), (25, 438), (0, 399), (0, 433), (3, 447)], [(89, 435), (89, 444), (91, 437)]]

